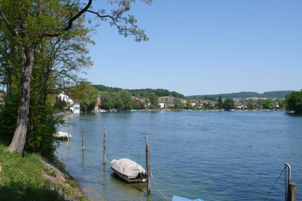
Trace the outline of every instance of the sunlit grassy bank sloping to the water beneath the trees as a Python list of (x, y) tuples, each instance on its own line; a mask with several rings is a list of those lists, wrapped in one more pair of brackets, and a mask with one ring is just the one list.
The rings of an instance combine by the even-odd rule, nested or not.
[(0, 200), (87, 200), (67, 172), (42, 163), (41, 156), (10, 153), (0, 144)]

